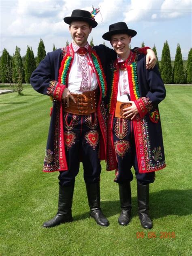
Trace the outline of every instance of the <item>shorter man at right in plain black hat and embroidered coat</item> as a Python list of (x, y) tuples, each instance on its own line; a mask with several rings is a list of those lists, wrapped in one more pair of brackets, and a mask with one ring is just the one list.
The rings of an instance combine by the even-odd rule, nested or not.
[(117, 53), (108, 73), (107, 170), (115, 169), (122, 208), (120, 225), (131, 218), (132, 166), (137, 179), (138, 211), (143, 228), (152, 228), (149, 218), (149, 183), (155, 171), (165, 167), (158, 104), (165, 98), (165, 87), (158, 68), (145, 68), (146, 56), (129, 49), (137, 34), (124, 22), (109, 26), (102, 38)]

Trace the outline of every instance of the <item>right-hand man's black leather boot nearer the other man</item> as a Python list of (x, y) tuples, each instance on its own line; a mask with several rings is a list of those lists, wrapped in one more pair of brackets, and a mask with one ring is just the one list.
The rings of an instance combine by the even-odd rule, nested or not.
[(119, 200), (122, 212), (118, 222), (122, 226), (129, 224), (131, 219), (131, 185), (130, 182), (119, 184)]

